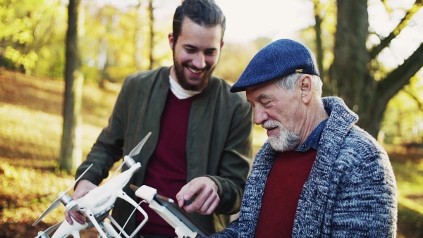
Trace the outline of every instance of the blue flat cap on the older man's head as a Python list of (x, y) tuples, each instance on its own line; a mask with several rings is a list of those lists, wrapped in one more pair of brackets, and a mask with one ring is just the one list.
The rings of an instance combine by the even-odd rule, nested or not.
[(275, 80), (293, 73), (320, 75), (316, 57), (307, 46), (291, 39), (278, 39), (261, 49), (248, 63), (231, 92)]

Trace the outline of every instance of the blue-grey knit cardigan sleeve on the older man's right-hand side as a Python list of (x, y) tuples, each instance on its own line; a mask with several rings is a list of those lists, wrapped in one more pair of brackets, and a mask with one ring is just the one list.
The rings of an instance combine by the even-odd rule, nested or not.
[[(386, 151), (374, 144), (355, 142), (341, 150), (345, 159), (336, 163), (343, 170), (333, 202), (333, 237), (395, 237), (397, 223), (396, 180)], [(376, 146), (374, 146), (376, 145)], [(345, 170), (343, 161), (350, 161)]]

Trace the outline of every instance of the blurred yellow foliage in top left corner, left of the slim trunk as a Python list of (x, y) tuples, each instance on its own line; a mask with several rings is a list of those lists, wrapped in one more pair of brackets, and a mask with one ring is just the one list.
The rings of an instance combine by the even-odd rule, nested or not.
[(63, 77), (66, 7), (60, 1), (31, 0), (1, 0), (0, 6), (1, 65)]

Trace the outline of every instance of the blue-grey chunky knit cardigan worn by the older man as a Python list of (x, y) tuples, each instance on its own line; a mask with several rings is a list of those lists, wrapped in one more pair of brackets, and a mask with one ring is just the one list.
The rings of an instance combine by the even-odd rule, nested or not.
[[(358, 116), (342, 99), (326, 97), (323, 103), (331, 115), (300, 194), (293, 237), (396, 237), (396, 180), (386, 151), (354, 125)], [(260, 237), (255, 230), (275, 154), (268, 142), (262, 146), (239, 218), (211, 237)]]

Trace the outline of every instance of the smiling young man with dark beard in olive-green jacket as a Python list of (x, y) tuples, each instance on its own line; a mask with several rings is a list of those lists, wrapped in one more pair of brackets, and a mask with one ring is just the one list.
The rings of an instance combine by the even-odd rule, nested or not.
[[(75, 177), (94, 164), (75, 187), (73, 199), (102, 182), (111, 166), (152, 132), (134, 158), (142, 168), (124, 191), (136, 200), (128, 186), (146, 184), (178, 201), (208, 232), (227, 225), (228, 215), (239, 211), (249, 171), (252, 107), (243, 94), (231, 94), (229, 84), (212, 75), (224, 30), (225, 17), (213, 0), (183, 1), (173, 18), (173, 33), (168, 35), (173, 66), (125, 80), (109, 125), (78, 168)], [(176, 236), (159, 215), (143, 208), (149, 221), (140, 235)], [(132, 206), (118, 199), (112, 215), (123, 225), (132, 211)], [(69, 223), (71, 216), (85, 222), (79, 213), (66, 213)], [(125, 227), (127, 233), (142, 219), (141, 214), (133, 215)]]

